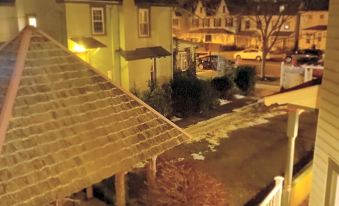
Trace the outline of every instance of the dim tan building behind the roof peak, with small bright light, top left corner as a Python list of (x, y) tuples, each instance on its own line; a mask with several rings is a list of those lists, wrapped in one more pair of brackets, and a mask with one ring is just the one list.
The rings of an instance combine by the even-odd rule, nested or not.
[(31, 24), (67, 45), (65, 22), (65, 8), (56, 0), (0, 0), (0, 42)]

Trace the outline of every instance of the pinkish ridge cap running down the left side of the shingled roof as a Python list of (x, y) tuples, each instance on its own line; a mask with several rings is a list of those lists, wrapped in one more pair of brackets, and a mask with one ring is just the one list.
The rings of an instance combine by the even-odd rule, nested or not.
[[(22, 72), (25, 67), (25, 60), (27, 57), (27, 51), (29, 48), (29, 43), (31, 41), (32, 30), (30, 26), (27, 26), (20, 32), (18, 35), (15, 36), (10, 42), (12, 42), (17, 37), (21, 36), (21, 41), (19, 43), (19, 48), (17, 52), (17, 58), (15, 61), (15, 65), (13, 68), (13, 73), (10, 78), (9, 86), (7, 88), (7, 93), (4, 98), (3, 106), (0, 112), (0, 152), (3, 143), (5, 142), (5, 135), (7, 131), (7, 127), (9, 125), (9, 119), (12, 116), (12, 109), (15, 102), (15, 97), (18, 92), (18, 87), (20, 84), (20, 80), (22, 77)], [(6, 44), (8, 45), (8, 43)], [(3, 49), (5, 47), (1, 47)]]

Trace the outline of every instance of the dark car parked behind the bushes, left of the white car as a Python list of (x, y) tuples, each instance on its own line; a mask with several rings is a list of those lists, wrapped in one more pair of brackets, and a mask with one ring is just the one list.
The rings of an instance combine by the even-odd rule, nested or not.
[(234, 66), (235, 62), (229, 59), (226, 59), (220, 55), (208, 55), (204, 57), (200, 57), (198, 59), (198, 69), (211, 69), (217, 70), (218, 65), (225, 64), (228, 67)]

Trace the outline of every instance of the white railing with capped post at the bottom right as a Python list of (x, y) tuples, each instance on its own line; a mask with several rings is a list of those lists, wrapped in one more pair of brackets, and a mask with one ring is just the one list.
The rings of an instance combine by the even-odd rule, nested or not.
[(260, 203), (260, 206), (281, 206), (281, 196), (283, 187), (283, 177), (275, 177), (275, 186), (267, 197)]

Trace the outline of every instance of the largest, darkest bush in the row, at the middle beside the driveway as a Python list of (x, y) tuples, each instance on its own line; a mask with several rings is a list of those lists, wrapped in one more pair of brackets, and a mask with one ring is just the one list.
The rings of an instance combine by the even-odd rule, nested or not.
[(216, 104), (217, 93), (208, 81), (177, 75), (171, 82), (173, 110), (184, 116), (205, 111)]

